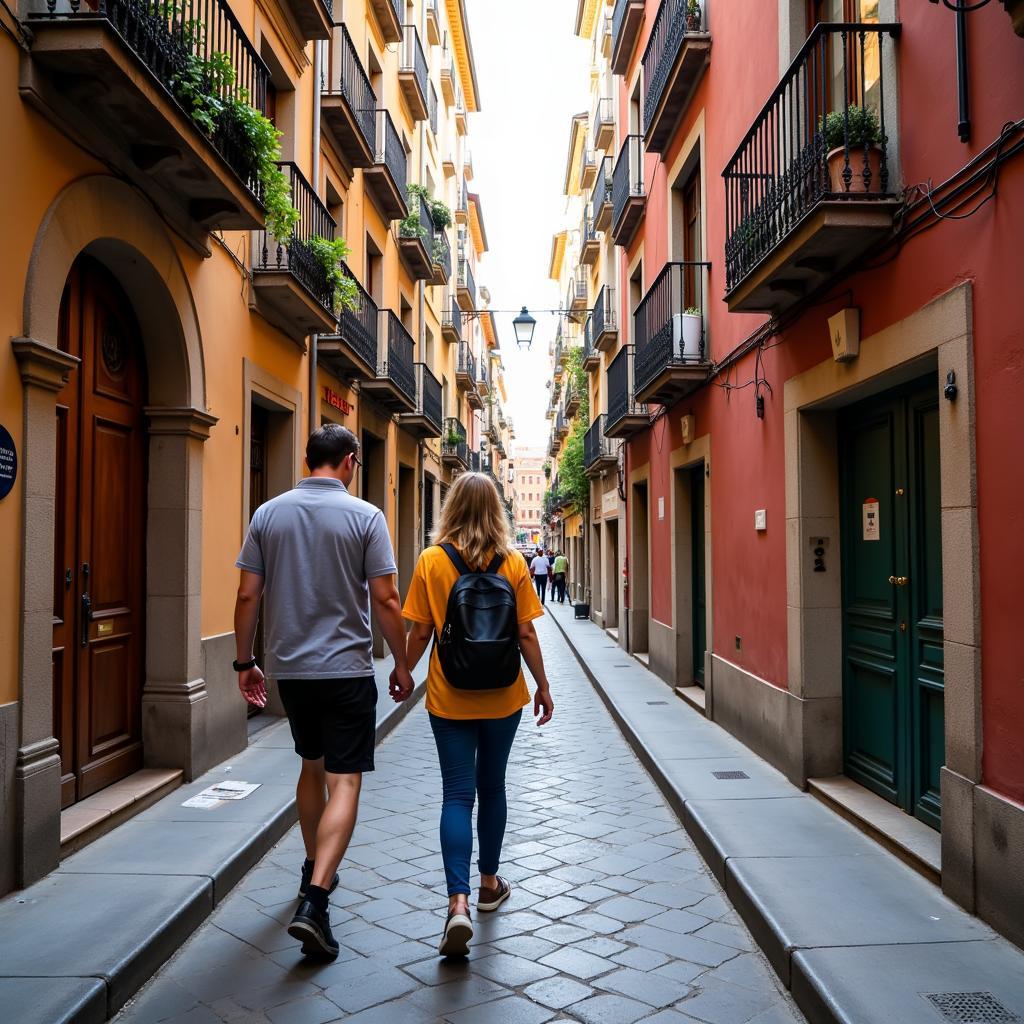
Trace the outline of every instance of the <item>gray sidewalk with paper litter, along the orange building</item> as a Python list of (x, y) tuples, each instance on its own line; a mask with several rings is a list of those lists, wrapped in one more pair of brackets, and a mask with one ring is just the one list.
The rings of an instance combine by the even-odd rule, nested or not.
[[(423, 695), (387, 694), (390, 659), (375, 663), (377, 742)], [(297, 820), (298, 759), (284, 720), (247, 750), (0, 901), (0, 1018), (93, 1024), (113, 1016), (196, 931)], [(184, 801), (225, 779), (252, 796), (211, 808)]]

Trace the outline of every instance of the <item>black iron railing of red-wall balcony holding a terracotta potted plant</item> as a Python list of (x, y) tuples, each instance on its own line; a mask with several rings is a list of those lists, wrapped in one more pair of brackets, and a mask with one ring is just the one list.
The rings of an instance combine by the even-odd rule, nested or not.
[[(725, 178), (726, 292), (823, 202), (892, 201), (896, 24), (820, 24), (743, 136)], [(753, 307), (752, 307), (753, 308)]]

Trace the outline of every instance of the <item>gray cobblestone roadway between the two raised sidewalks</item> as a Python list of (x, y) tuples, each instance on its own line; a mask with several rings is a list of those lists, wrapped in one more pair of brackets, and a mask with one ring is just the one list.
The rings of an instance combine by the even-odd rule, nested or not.
[[(378, 750), (332, 897), (341, 955), (305, 961), (298, 828), (123, 1011), (122, 1024), (794, 1024), (802, 1021), (553, 623), (555, 719), (524, 718), (502, 873), (468, 961), (439, 959), (440, 776), (422, 708)], [(625, 656), (625, 655), (624, 655)]]

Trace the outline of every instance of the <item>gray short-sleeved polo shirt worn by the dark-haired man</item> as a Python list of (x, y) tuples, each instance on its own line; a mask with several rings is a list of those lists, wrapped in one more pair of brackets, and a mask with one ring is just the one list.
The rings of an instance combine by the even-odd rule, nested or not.
[(265, 578), (268, 679), (373, 674), (367, 581), (398, 571), (379, 508), (306, 477), (256, 510), (234, 564)]

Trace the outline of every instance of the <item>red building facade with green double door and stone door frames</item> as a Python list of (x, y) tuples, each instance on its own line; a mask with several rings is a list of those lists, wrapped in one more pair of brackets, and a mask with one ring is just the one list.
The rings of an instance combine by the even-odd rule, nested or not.
[(618, 0), (612, 33), (595, 617), (795, 782), (937, 830), (919, 866), (1022, 943), (1024, 38), (896, 0)]

